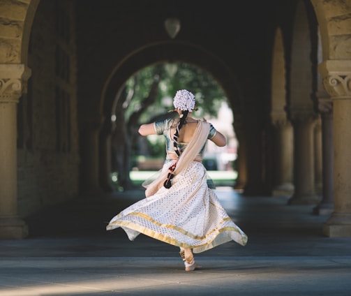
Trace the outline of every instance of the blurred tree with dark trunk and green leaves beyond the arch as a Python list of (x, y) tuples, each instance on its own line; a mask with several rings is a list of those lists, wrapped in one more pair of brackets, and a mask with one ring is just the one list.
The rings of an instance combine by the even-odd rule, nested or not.
[[(156, 64), (142, 69), (126, 82), (117, 101), (115, 130), (112, 135), (112, 167), (117, 170), (118, 185), (132, 188), (129, 172), (133, 154), (137, 154), (140, 124), (173, 116), (172, 97), (178, 89), (193, 92), (198, 117), (217, 114), (225, 100), (223, 91), (211, 76), (190, 64)], [(148, 143), (150, 145), (150, 143)]]

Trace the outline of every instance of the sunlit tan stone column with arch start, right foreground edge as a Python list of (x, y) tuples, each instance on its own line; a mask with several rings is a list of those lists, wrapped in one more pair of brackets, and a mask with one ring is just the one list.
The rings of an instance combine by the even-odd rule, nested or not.
[(324, 224), (329, 237), (351, 236), (351, 3), (311, 0), (320, 26), (324, 88), (333, 102), (334, 212)]

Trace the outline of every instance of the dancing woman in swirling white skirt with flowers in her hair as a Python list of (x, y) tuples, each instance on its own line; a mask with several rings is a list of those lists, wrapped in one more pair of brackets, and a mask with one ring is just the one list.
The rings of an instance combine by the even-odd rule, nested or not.
[(146, 198), (114, 216), (107, 230), (121, 227), (134, 240), (143, 233), (179, 246), (186, 272), (200, 267), (193, 253), (234, 241), (244, 246), (248, 237), (230, 219), (213, 189), (207, 185), (202, 154), (207, 140), (219, 147), (225, 136), (205, 120), (194, 119), (195, 96), (177, 91), (173, 105), (179, 118), (142, 124), (140, 135), (164, 135), (165, 163), (160, 176), (146, 187)]

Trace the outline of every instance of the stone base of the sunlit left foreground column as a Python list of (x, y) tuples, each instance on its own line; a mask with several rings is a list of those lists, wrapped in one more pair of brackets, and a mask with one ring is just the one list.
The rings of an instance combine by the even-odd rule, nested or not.
[(27, 236), (28, 226), (20, 217), (0, 217), (0, 239), (24, 239)]

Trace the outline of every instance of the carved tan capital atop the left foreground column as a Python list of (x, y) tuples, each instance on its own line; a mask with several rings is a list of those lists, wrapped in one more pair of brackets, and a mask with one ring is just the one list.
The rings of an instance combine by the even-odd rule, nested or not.
[(18, 103), (30, 76), (31, 69), (24, 64), (0, 64), (0, 103)]

